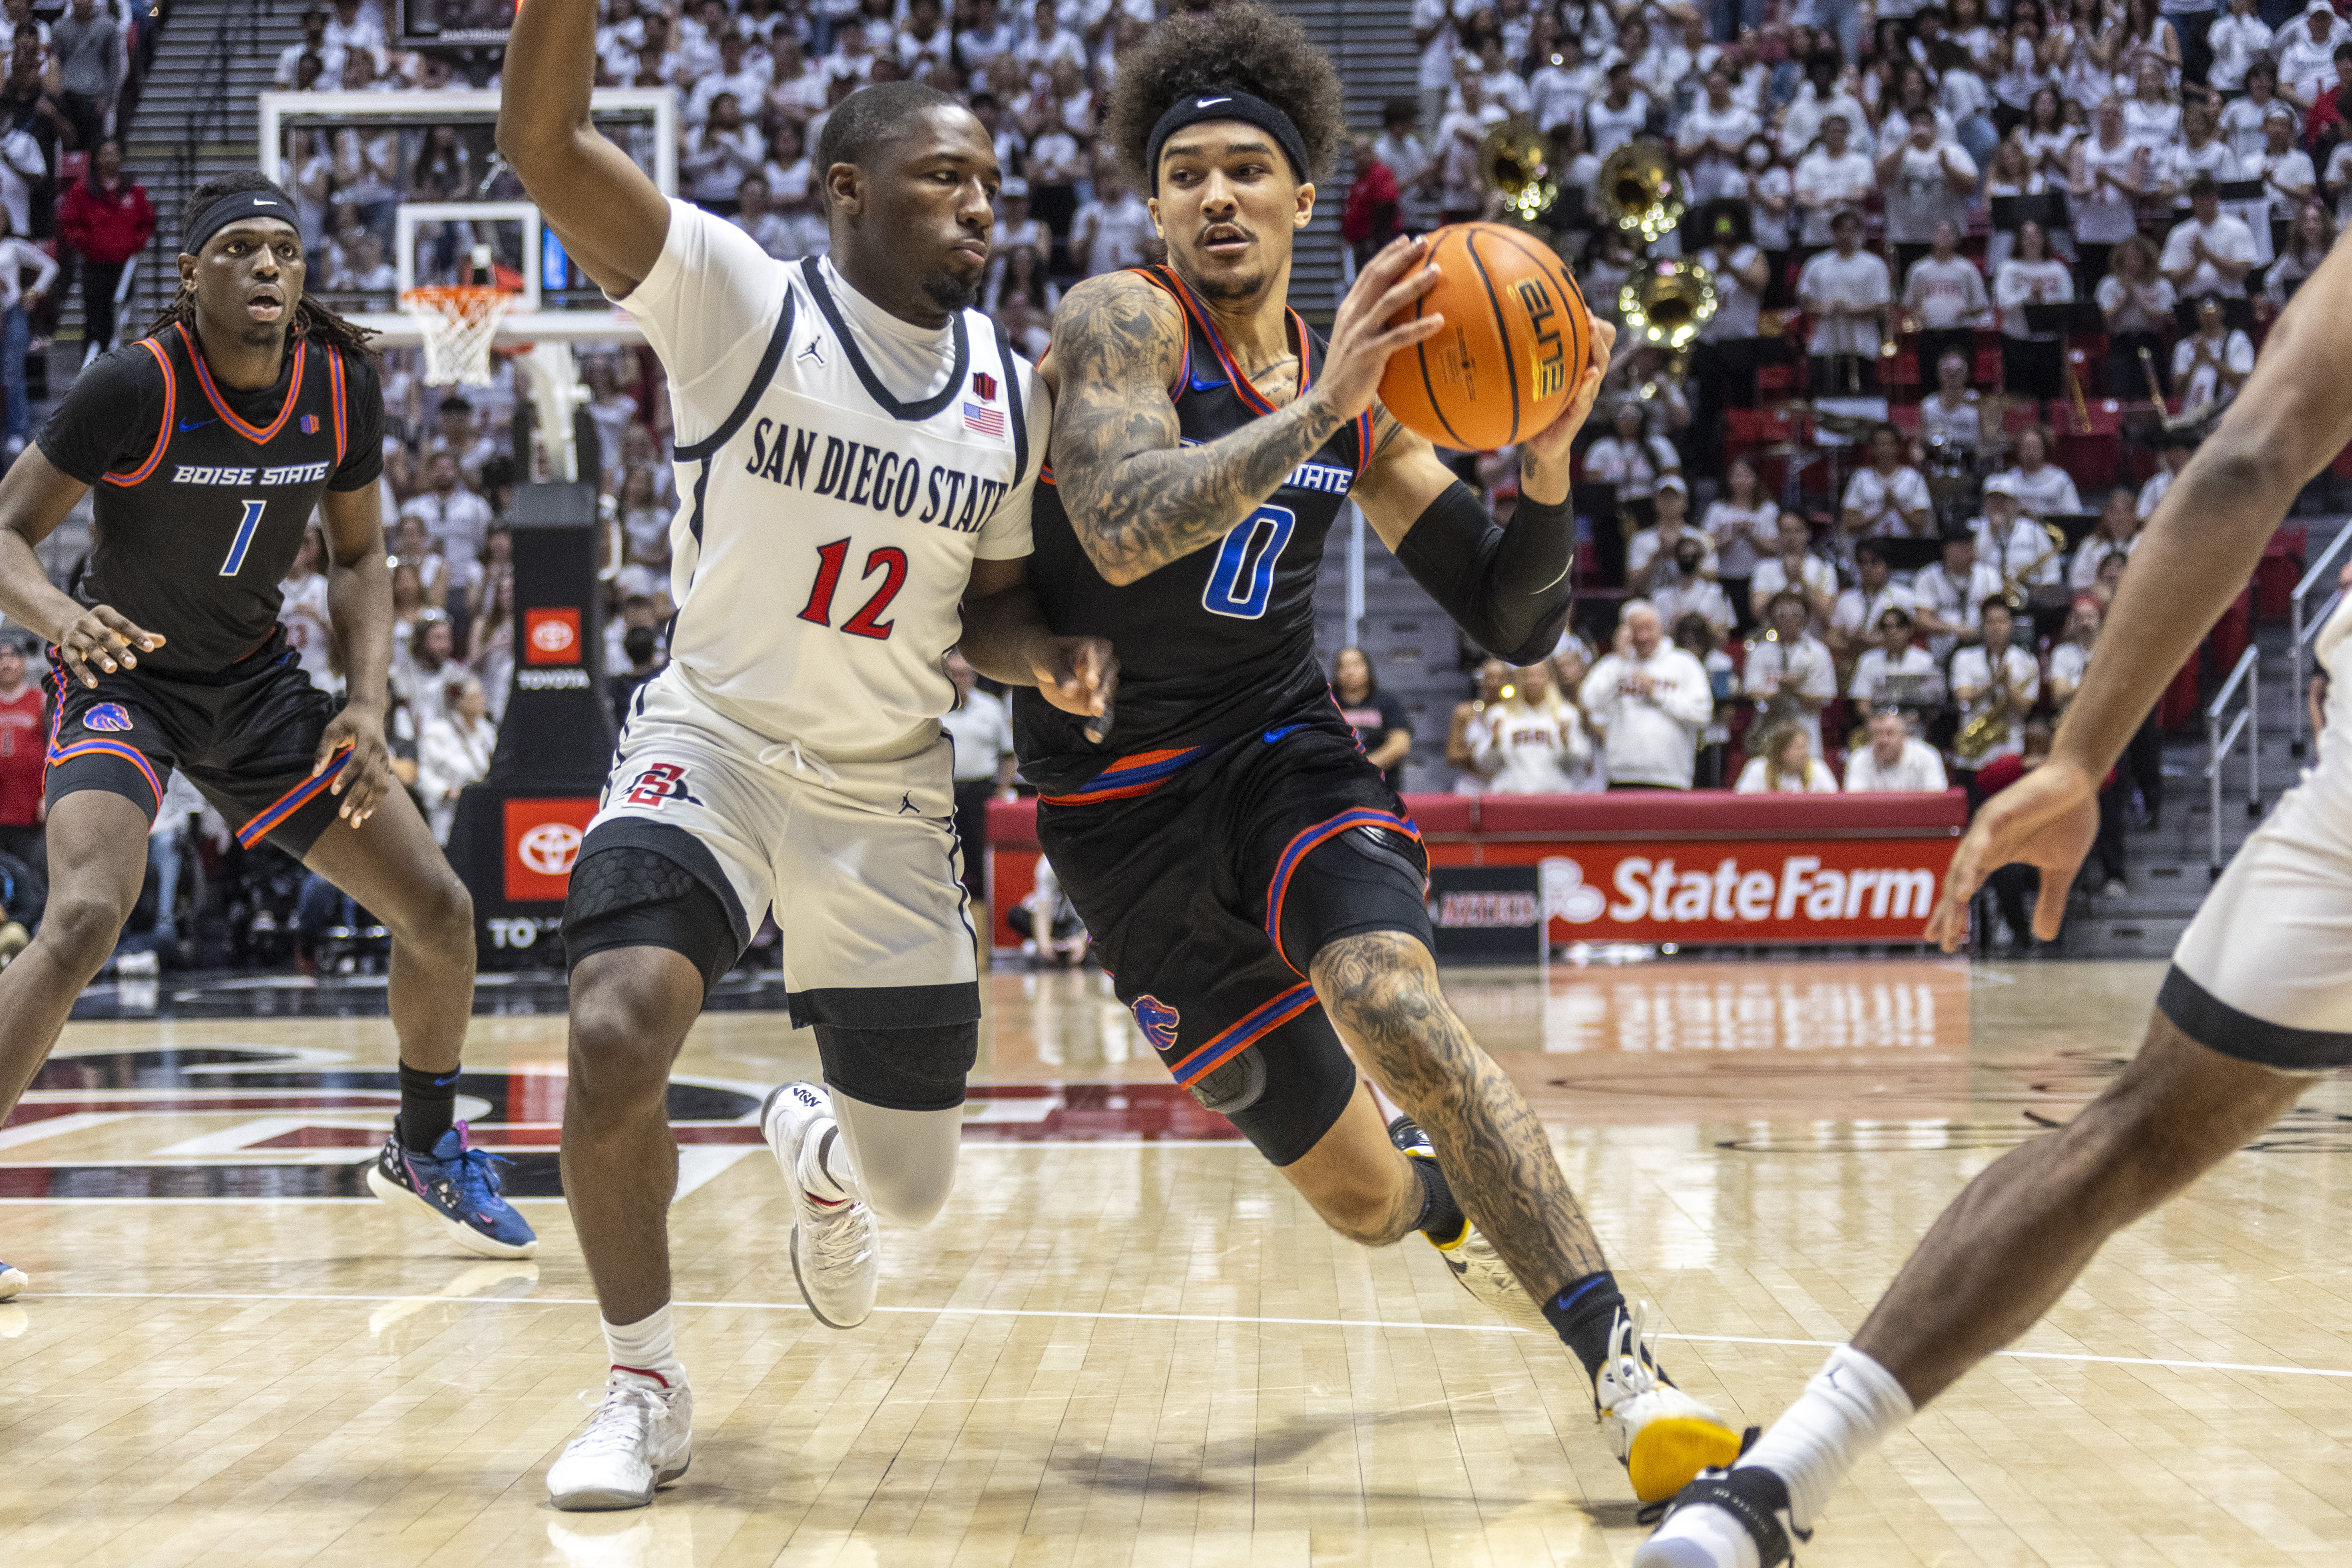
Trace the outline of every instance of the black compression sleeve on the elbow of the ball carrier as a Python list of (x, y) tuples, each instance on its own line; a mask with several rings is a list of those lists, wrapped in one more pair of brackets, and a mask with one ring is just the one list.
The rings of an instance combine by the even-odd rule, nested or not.
[(1519, 501), (1503, 529), (1456, 480), (1406, 529), (1397, 559), (1475, 644), (1536, 663), (1559, 642), (1576, 597), (1576, 512), (1566, 501)]

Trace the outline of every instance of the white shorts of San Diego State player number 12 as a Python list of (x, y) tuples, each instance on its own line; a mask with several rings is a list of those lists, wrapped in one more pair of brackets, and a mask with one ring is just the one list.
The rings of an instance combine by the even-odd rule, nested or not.
[(903, 757), (828, 762), (713, 710), (677, 668), (640, 696), (583, 867), (635, 846), (694, 872), (727, 907), (736, 954), (774, 910), (795, 1027), (981, 1016), (946, 731)]

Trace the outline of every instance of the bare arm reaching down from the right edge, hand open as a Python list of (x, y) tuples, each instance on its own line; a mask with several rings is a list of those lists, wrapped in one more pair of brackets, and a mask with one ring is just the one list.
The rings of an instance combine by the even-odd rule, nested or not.
[(2147, 522), (2098, 658), (2067, 703), (2051, 759), (2002, 790), (1952, 856), (1929, 938), (1969, 933), (1969, 898), (2011, 860), (2042, 870), (2034, 936), (2058, 936), (2065, 893), (2098, 830), (2098, 780), (2173, 670), (2253, 576), (2296, 494), (2352, 442), (2352, 402), (2331, 374), (2352, 355), (2352, 244), (2338, 242), (2279, 315), (2246, 390)]

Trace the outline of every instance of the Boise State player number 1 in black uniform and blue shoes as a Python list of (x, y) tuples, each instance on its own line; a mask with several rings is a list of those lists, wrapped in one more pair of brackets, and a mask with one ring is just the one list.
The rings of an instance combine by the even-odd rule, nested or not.
[[(0, 971), (0, 1119), (49, 1056), (146, 877), (172, 769), (238, 830), (296, 856), (393, 933), (400, 1119), (369, 1187), (492, 1258), (539, 1241), (452, 1124), (473, 1013), (473, 903), (383, 743), (393, 588), (376, 475), (383, 393), (350, 322), (303, 299), (294, 202), (261, 174), (188, 197), (179, 299), (89, 369), (0, 480), (0, 611), (49, 639), (49, 907)], [(87, 604), (33, 545), (92, 496)], [(325, 522), (350, 679), (310, 684), (278, 583)]]

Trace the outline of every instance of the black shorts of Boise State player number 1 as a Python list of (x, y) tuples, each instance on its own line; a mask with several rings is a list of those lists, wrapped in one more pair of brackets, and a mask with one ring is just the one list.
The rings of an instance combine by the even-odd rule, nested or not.
[(350, 752), (310, 776), (336, 698), (310, 684), (285, 635), (214, 679), (92, 670), (85, 686), (49, 654), (49, 809), (80, 790), (120, 795), (148, 823), (172, 769), (228, 820), (238, 844), (268, 839), (296, 860), (334, 820), (329, 795)]

